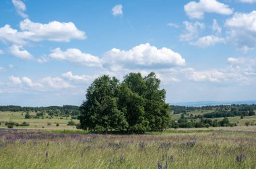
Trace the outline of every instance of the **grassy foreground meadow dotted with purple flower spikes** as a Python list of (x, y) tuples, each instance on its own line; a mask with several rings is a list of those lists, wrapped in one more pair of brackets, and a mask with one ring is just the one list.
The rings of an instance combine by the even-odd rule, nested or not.
[(0, 168), (256, 168), (256, 131), (145, 135), (0, 129)]

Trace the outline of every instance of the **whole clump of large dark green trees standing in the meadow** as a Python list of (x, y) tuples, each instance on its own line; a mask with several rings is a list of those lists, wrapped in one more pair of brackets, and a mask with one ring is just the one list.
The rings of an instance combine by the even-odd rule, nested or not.
[(79, 107), (81, 128), (97, 132), (162, 131), (170, 123), (165, 95), (154, 72), (145, 77), (132, 72), (123, 82), (100, 76), (88, 87), (86, 101)]

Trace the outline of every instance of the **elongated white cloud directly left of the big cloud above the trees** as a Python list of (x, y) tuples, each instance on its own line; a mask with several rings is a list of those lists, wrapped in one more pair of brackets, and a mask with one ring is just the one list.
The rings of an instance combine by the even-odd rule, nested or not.
[(82, 66), (101, 66), (100, 58), (92, 56), (91, 54), (83, 53), (75, 48), (70, 48), (66, 51), (56, 48), (51, 54), (49, 54), (49, 57), (57, 60), (66, 60)]

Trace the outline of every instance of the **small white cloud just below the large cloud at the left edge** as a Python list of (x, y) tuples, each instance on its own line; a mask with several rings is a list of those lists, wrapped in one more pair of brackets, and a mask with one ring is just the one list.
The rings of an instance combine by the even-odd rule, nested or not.
[(22, 58), (24, 60), (32, 60), (33, 56), (27, 50), (24, 50), (22, 46), (13, 45), (9, 48), (9, 52), (18, 58)]

